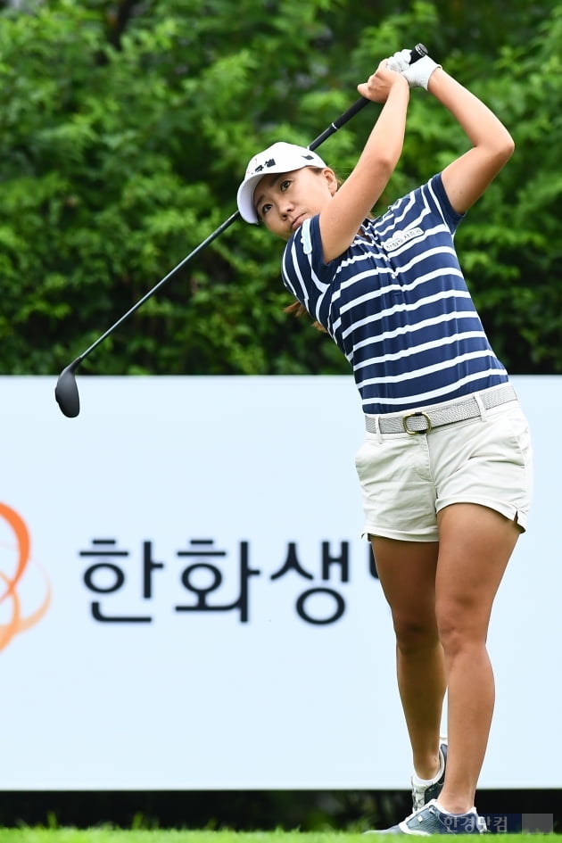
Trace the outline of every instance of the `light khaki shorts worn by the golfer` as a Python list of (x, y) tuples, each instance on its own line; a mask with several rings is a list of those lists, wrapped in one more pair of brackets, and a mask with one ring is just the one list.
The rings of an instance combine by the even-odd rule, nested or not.
[(533, 453), (518, 401), (428, 434), (367, 433), (355, 465), (365, 510), (363, 535), (438, 541), (437, 513), (453, 503), (495, 509), (526, 530)]

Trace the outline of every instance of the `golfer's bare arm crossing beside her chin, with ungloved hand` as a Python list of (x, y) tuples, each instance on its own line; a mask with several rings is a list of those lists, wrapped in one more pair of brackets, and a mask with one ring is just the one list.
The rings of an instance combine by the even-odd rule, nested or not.
[(367, 82), (358, 86), (362, 96), (384, 103), (349, 178), (320, 213), (324, 260), (345, 252), (360, 225), (383, 193), (400, 160), (409, 103), (408, 82), (388, 70), (385, 61)]

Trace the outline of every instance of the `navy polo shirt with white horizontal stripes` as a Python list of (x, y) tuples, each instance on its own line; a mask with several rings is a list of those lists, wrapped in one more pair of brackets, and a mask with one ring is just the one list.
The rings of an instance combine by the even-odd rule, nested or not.
[(393, 413), (508, 381), (459, 266), (462, 219), (441, 174), (366, 219), (351, 246), (324, 263), (318, 216), (285, 246), (283, 281), (353, 369), (363, 411)]

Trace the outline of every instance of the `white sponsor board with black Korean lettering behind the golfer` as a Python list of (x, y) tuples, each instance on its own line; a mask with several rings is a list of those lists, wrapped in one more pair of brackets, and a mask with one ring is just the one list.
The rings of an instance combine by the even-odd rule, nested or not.
[[(0, 378), (0, 788), (407, 788), (351, 377), (78, 381), (68, 419)], [(513, 382), (536, 491), (481, 787), (558, 788), (562, 378)]]

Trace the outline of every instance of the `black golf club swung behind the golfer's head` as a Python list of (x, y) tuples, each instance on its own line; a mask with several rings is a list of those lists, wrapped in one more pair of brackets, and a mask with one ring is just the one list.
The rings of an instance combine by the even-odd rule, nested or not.
[[(418, 59), (421, 59), (426, 54), (426, 47), (423, 44), (417, 44), (411, 51), (410, 62), (417, 62)], [(364, 108), (370, 102), (370, 100), (366, 99), (363, 96), (360, 96), (360, 98), (355, 103), (353, 103), (350, 108), (347, 109), (347, 111), (343, 112), (343, 114), (340, 114), (337, 120), (334, 120), (333, 123), (330, 123), (330, 125), (321, 133), (321, 135), (318, 135), (318, 137), (316, 137), (312, 141), (312, 143), (308, 145), (308, 148), (311, 150), (317, 149), (320, 144), (324, 143), (326, 138), (333, 135), (338, 130), (338, 128), (342, 128), (345, 123), (351, 120), (352, 117), (354, 117), (358, 112), (360, 112), (362, 108)], [(98, 345), (103, 343), (103, 340), (105, 340), (109, 335), (111, 335), (116, 328), (122, 325), (123, 322), (125, 322), (126, 319), (129, 318), (129, 316), (132, 316), (132, 314), (135, 313), (136, 310), (142, 307), (143, 304), (148, 301), (148, 299), (150, 299), (154, 293), (160, 290), (161, 286), (166, 284), (170, 280), (170, 278), (177, 275), (181, 269), (184, 269), (184, 267), (190, 260), (193, 260), (193, 258), (198, 255), (199, 252), (202, 252), (202, 250), (206, 248), (206, 246), (211, 244), (213, 240), (216, 240), (217, 237), (219, 237), (219, 235), (226, 231), (227, 228), (230, 227), (234, 222), (236, 222), (237, 219), (240, 219), (239, 211), (236, 211), (234, 214), (228, 217), (228, 219), (225, 219), (225, 221), (218, 228), (216, 228), (208, 237), (206, 237), (202, 241), (202, 243), (200, 243), (194, 248), (193, 252), (190, 252), (188, 255), (186, 255), (186, 257), (178, 263), (178, 266), (174, 267), (174, 269), (171, 269), (168, 275), (161, 278), (161, 281), (159, 281), (158, 284), (153, 286), (152, 290), (149, 290), (148, 293), (145, 293), (142, 299), (139, 299), (139, 301), (136, 302), (136, 304), (134, 304), (133, 307), (127, 311), (127, 313), (124, 313), (123, 316), (119, 318), (117, 322), (114, 323), (114, 325), (109, 327), (103, 335), (98, 337), (95, 340), (95, 343), (92, 343), (86, 351), (82, 351), (79, 357), (77, 357), (76, 360), (72, 360), (69, 366), (62, 369), (62, 372), (56, 382), (56, 386), (54, 387), (54, 397), (59, 407), (61, 408), (64, 416), (74, 418), (79, 415), (80, 398), (78, 384), (76, 383), (76, 369), (79, 367), (82, 360), (85, 360), (88, 354), (94, 351), (94, 349), (97, 348)]]

